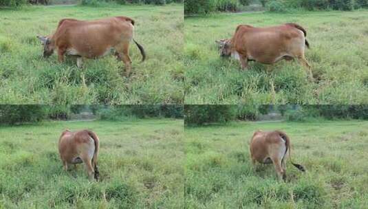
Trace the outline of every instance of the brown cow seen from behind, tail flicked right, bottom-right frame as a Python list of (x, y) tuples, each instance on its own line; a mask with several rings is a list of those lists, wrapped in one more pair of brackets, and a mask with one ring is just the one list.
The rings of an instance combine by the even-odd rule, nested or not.
[(285, 180), (286, 155), (290, 157), (290, 162), (299, 170), (305, 168), (299, 164), (294, 164), (290, 155), (290, 138), (281, 131), (256, 131), (250, 140), (250, 157), (252, 163), (274, 164), (279, 179)]

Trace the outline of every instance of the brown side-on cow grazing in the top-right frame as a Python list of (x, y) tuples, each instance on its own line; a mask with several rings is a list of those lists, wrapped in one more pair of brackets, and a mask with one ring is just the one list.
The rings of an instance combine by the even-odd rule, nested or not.
[(221, 57), (232, 56), (241, 63), (241, 68), (248, 67), (248, 61), (272, 64), (283, 59), (290, 61), (297, 58), (307, 67), (312, 78), (310, 64), (305, 60), (305, 45), (309, 47), (307, 32), (300, 25), (286, 23), (284, 25), (255, 28), (250, 25), (239, 25), (231, 39), (216, 41), (219, 44)]

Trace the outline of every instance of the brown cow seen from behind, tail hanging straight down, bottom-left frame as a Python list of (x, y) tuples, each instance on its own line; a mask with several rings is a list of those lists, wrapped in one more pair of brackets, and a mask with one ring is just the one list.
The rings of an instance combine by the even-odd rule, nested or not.
[(100, 148), (98, 136), (89, 130), (61, 133), (58, 141), (58, 151), (65, 170), (72, 164), (85, 163), (90, 180), (98, 180), (97, 167), (98, 149)]

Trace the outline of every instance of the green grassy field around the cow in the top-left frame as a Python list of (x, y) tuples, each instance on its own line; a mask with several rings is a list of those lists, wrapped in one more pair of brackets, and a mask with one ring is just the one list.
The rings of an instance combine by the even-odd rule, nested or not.
[[(136, 21), (135, 39), (147, 52), (147, 61), (141, 63), (138, 48), (131, 44), (129, 78), (122, 76), (125, 65), (112, 55), (86, 61), (83, 69), (71, 58), (58, 63), (56, 53), (42, 57), (36, 35), (51, 34), (61, 19), (113, 16)], [(32, 6), (1, 10), (0, 25), (1, 104), (169, 104), (184, 100), (183, 5)]]

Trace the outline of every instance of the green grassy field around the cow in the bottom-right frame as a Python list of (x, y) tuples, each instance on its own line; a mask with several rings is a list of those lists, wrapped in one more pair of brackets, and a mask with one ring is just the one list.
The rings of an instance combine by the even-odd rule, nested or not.
[[(286, 183), (272, 165), (252, 167), (248, 142), (281, 129), (292, 142)], [(186, 208), (367, 208), (367, 121), (232, 122), (185, 129)]]

